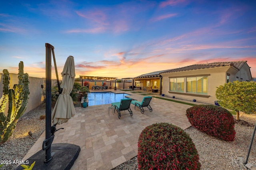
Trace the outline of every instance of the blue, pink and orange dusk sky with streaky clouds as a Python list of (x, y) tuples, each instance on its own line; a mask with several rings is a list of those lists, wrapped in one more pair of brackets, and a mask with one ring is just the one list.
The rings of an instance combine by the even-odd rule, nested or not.
[[(256, 77), (255, 0), (9, 0), (0, 5), (0, 72), (135, 77), (198, 63), (248, 61)], [(54, 66), (52, 62), (52, 66)], [(54, 70), (52, 78), (56, 78)]]

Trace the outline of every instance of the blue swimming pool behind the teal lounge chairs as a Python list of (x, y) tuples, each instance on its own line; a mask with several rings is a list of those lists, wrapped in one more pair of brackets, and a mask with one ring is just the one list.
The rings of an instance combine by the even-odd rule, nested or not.
[(120, 102), (121, 99), (130, 96), (126, 93), (113, 93), (113, 92), (91, 92), (88, 94), (88, 106), (95, 106), (101, 104), (111, 104), (113, 102)]

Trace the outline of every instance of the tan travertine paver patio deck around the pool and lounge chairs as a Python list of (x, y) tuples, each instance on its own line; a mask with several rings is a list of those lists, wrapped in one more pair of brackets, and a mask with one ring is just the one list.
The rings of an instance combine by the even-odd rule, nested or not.
[[(125, 93), (139, 101), (144, 97), (136, 93)], [(191, 126), (185, 115), (186, 109), (191, 106), (157, 98), (152, 98), (150, 105), (153, 111), (145, 111), (144, 114), (131, 105), (133, 116), (121, 115), (120, 119), (117, 113), (113, 115), (111, 112), (108, 115), (111, 104), (76, 107), (76, 115), (72, 119), (57, 125), (57, 128), (64, 129), (55, 133), (53, 143), (72, 143), (81, 147), (71, 170), (110, 170), (137, 155), (138, 137), (146, 126), (158, 122), (172, 123), (182, 129)], [(123, 113), (124, 111), (121, 112)], [(42, 149), (44, 139), (45, 133), (29, 150), (24, 160)]]

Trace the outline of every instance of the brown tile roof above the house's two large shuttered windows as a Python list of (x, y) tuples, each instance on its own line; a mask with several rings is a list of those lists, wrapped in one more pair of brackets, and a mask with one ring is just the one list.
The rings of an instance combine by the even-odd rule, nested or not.
[(222, 66), (233, 66), (234, 68), (240, 70), (246, 62), (247, 61), (227, 61), (227, 62), (214, 62), (214, 63), (206, 63), (206, 64), (193, 64), (190, 66), (174, 68), (174, 69), (166, 70), (159, 73), (162, 74), (162, 73), (169, 73), (169, 72), (181, 72), (181, 71), (199, 70), (199, 69), (222, 67)]

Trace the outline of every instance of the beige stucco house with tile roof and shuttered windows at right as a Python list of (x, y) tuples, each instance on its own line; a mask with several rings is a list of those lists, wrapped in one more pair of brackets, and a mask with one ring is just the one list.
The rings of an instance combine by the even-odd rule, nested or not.
[(193, 64), (159, 72), (162, 94), (214, 103), (216, 88), (227, 82), (252, 81), (247, 61)]

